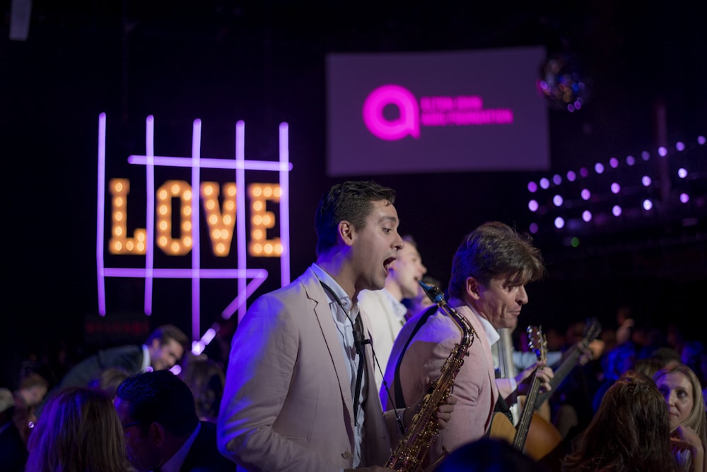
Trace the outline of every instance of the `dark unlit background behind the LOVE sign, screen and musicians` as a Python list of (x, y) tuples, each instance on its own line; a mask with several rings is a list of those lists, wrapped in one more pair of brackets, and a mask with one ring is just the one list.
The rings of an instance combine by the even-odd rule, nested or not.
[[(115, 336), (86, 336), (86, 324), (98, 319), (100, 112), (107, 113), (109, 177), (133, 178), (125, 160), (144, 150), (148, 114), (156, 118), (161, 155), (189, 155), (192, 121), (200, 118), (202, 155), (230, 157), (235, 122), (243, 119), (246, 158), (275, 160), (277, 127), (288, 122), (292, 278), (315, 257), (319, 196), (342, 180), (325, 172), (329, 52), (543, 45), (549, 56), (568, 54), (591, 88), (579, 112), (549, 107), (552, 172), (646, 149), (655, 153), (658, 145), (676, 141), (694, 143), (707, 132), (707, 41), (699, 2), (62, 3), (33, 1), (25, 41), (8, 39), (9, 1), (2, 10), (0, 153), (9, 216), (3, 225), (0, 384), (11, 387), (31, 355), (52, 358), (64, 346), (69, 358), (80, 358), (131, 335), (141, 341), (145, 331), (167, 321), (190, 330), (188, 283), (156, 283), (154, 312), (146, 321), (134, 315), (141, 309), (141, 283), (121, 281), (111, 285), (106, 319), (113, 309), (114, 319), (124, 315), (138, 324), (118, 326)], [(692, 152), (705, 158), (704, 146)], [(527, 228), (525, 186), (540, 175), (356, 179), (371, 177), (397, 189), (400, 231), (414, 235), (429, 273), (446, 283), (451, 255), (476, 225), (493, 219)], [(660, 218), (588, 232), (577, 248), (553, 232), (539, 233), (549, 278), (530, 286), (524, 318), (563, 329), (595, 316), (615, 326), (618, 307), (628, 305), (641, 323), (688, 330), (703, 315), (707, 282), (707, 218), (703, 207), (691, 208), (687, 216), (668, 208)], [(692, 218), (690, 225), (685, 218)], [(262, 290), (279, 285), (279, 273), (271, 274)], [(221, 297), (230, 300), (235, 291), (221, 283), (204, 286), (206, 327), (218, 319)]]

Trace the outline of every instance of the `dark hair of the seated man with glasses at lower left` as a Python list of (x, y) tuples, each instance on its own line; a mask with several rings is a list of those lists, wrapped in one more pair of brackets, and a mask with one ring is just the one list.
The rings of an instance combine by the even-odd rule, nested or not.
[(141, 423), (143, 432), (151, 423), (160, 423), (173, 435), (185, 437), (199, 423), (192, 391), (169, 370), (132, 375), (119, 385), (116, 396), (129, 403), (128, 415)]

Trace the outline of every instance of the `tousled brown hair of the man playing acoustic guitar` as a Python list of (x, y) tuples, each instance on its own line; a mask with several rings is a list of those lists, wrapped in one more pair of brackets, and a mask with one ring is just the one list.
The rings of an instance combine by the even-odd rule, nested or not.
[(506, 277), (513, 284), (525, 285), (545, 275), (540, 250), (530, 235), (491, 221), (470, 232), (452, 259), (449, 296), (462, 298), (468, 277), (488, 286), (492, 278)]

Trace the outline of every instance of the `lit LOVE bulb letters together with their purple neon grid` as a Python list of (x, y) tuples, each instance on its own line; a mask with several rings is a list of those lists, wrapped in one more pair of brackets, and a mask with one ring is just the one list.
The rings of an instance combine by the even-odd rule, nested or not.
[[(146, 227), (137, 228), (132, 236), (127, 228), (127, 199), (130, 191), (128, 179), (105, 181), (105, 135), (106, 116), (98, 117), (98, 215), (96, 225), (96, 261), (98, 271), (98, 312), (106, 314), (105, 278), (144, 278), (144, 312), (152, 312), (153, 280), (155, 278), (189, 278), (192, 281), (192, 351), (200, 353), (214, 337), (213, 329), (201, 336), (199, 327), (200, 282), (204, 278), (236, 279), (238, 295), (221, 312), (228, 319), (238, 310), (243, 317), (247, 298), (267, 279), (265, 269), (247, 267), (247, 254), (261, 257), (279, 257), (281, 285), (290, 282), (289, 256), (289, 172), (292, 164), (288, 152), (288, 124), (279, 126), (279, 160), (245, 160), (245, 124), (235, 125), (235, 160), (221, 158), (201, 158), (201, 120), (194, 120), (192, 126), (192, 157), (167, 157), (154, 153), (154, 118), (146, 119), (146, 153), (130, 155), (128, 163), (144, 165), (146, 170)], [(191, 182), (168, 180), (155, 189), (155, 167), (190, 167)], [(217, 182), (201, 182), (201, 168), (231, 170), (235, 182), (226, 182), (218, 187)], [(277, 184), (250, 184), (245, 186), (245, 170), (268, 170), (277, 172)], [(113, 268), (105, 266), (105, 189), (111, 196), (111, 230), (107, 241), (110, 254), (133, 254), (145, 256), (144, 267)], [(197, 189), (197, 191), (194, 191)], [(240, 189), (245, 189), (241, 191)], [(219, 205), (221, 194), (223, 205)], [(200, 198), (199, 198), (200, 197)], [(250, 201), (250, 222), (245, 216), (246, 199)], [(178, 218), (173, 219), (174, 204), (178, 201)], [(267, 211), (267, 201), (279, 203), (279, 214)], [(225, 257), (230, 253), (234, 228), (237, 242), (238, 263), (235, 269), (201, 268), (201, 247), (199, 241), (200, 212), (204, 211), (207, 234), (214, 256)], [(280, 235), (267, 239), (267, 230), (274, 228), (279, 218)], [(173, 228), (173, 221), (179, 228)], [(250, 242), (246, 240), (246, 223), (250, 223)], [(154, 267), (154, 251), (160, 249), (165, 254), (184, 256), (191, 252), (191, 268), (162, 269)], [(250, 282), (249, 282), (250, 280)], [(199, 338), (201, 336), (201, 338)], [(196, 340), (199, 341), (196, 341)]]

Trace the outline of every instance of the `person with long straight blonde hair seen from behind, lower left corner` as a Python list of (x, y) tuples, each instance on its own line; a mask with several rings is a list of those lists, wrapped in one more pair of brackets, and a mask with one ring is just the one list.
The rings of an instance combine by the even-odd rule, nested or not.
[(27, 472), (128, 472), (110, 397), (88, 387), (49, 395), (28, 442)]

